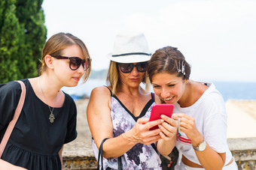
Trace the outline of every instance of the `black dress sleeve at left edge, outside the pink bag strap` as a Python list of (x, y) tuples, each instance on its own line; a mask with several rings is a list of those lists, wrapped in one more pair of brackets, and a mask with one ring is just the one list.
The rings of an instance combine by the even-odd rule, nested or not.
[(14, 117), (20, 94), (21, 87), (18, 82), (0, 84), (0, 131), (7, 127)]

